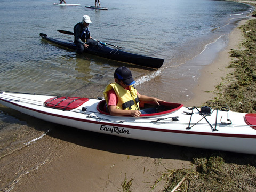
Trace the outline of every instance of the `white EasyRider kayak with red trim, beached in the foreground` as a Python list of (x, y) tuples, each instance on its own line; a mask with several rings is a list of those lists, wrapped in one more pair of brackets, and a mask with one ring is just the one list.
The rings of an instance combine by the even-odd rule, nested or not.
[[(256, 154), (256, 114), (162, 102), (162, 112), (111, 116), (105, 100), (0, 92), (21, 113), (78, 129), (187, 147)], [(142, 103), (143, 104), (143, 103)], [(144, 107), (153, 105), (145, 103)]]

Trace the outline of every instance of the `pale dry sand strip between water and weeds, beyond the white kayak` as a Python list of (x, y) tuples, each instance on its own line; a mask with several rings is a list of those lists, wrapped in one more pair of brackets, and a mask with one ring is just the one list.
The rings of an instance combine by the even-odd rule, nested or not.
[[(251, 16), (250, 16), (251, 17)], [(251, 19), (249, 17), (249, 19)], [(244, 41), (243, 33), (238, 27), (246, 23), (247, 20), (238, 22), (237, 27), (228, 34), (228, 44), (221, 52), (218, 53), (214, 61), (200, 70), (200, 77), (197, 85), (193, 88), (194, 97), (187, 101), (187, 106), (200, 106), (206, 101), (212, 100), (215, 97), (214, 90), (219, 85), (223, 78), (234, 71), (234, 68), (227, 68), (233, 58), (230, 57), (230, 49), (242, 49), (239, 44)]]

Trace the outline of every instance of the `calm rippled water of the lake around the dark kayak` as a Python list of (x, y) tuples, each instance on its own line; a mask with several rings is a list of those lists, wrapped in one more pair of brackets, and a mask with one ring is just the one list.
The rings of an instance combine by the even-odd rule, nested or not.
[[(211, 0), (102, 0), (101, 6), (108, 7), (107, 11), (85, 8), (93, 6), (93, 0), (67, 0), (81, 6), (52, 3), (1, 1), (0, 90), (96, 98), (113, 81), (114, 70), (124, 65), (132, 70), (140, 93), (182, 102), (193, 97), (191, 88), (196, 85), (198, 70), (225, 47), (227, 34), (251, 11), (246, 4)], [(57, 30), (73, 31), (84, 14), (91, 17), (93, 38), (126, 51), (163, 58), (163, 67), (149, 70), (77, 55), (39, 37), (39, 33), (47, 33), (73, 40), (72, 35)], [(1, 156), (45, 132), (31, 128), (27, 117), (25, 121), (18, 113), (12, 116), (1, 109)]]

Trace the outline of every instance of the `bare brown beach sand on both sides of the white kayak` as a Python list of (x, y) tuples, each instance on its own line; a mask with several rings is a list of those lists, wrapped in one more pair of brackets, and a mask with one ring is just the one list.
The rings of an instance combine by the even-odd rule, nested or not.
[[(239, 49), (242, 41), (241, 30), (235, 28), (226, 49), (200, 71), (195, 97), (185, 106), (200, 106), (214, 98), (215, 86), (233, 70), (226, 68), (231, 61), (228, 52)], [(205, 151), (74, 130), (38, 119), (32, 119), (30, 126), (40, 124), (51, 131), (1, 159), (3, 191), (123, 191), (125, 180), (132, 180), (132, 191), (162, 191), (164, 179), (152, 186), (163, 172), (189, 167), (193, 156)]]

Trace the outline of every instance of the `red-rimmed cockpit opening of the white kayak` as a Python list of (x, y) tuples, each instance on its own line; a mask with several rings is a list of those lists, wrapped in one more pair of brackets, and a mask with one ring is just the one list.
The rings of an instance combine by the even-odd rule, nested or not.
[[(173, 113), (174, 111), (177, 111), (181, 107), (183, 107), (183, 104), (170, 103), (170, 102), (161, 102), (160, 105), (163, 106), (163, 109), (161, 111), (159, 111), (158, 113), (141, 115), (141, 117), (142, 116), (143, 117), (144, 116), (156, 116), (156, 115), (164, 115), (164, 114), (168, 114), (168, 113)], [(149, 108), (149, 107), (153, 107), (153, 106), (156, 106), (155, 102), (148, 102), (148, 101), (140, 102), (140, 108), (141, 109)], [(107, 111), (106, 100), (102, 100), (98, 103), (97, 110), (102, 114), (110, 115), (110, 113)]]

